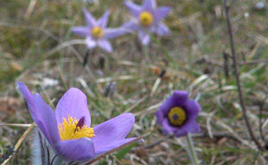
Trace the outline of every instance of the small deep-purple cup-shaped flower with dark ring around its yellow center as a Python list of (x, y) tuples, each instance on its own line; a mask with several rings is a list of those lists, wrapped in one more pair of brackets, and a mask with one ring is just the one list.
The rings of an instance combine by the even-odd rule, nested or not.
[(201, 111), (196, 100), (190, 100), (186, 91), (175, 91), (156, 112), (157, 123), (162, 125), (164, 134), (174, 133), (185, 136), (187, 133), (200, 132), (195, 118)]

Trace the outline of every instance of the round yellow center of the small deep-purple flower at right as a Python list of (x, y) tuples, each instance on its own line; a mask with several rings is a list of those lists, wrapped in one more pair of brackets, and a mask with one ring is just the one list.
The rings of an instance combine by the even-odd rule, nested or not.
[(173, 107), (168, 112), (168, 119), (173, 126), (181, 126), (186, 120), (186, 113), (180, 107)]

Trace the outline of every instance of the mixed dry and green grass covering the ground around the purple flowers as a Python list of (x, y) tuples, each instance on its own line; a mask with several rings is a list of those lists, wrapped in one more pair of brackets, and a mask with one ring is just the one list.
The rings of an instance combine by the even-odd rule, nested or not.
[[(140, 148), (165, 137), (155, 124), (157, 105), (173, 90), (188, 90), (190, 97), (199, 98), (202, 106), (202, 113), (197, 119), (202, 127), (202, 136), (199, 134), (193, 140), (203, 164), (265, 164), (267, 151), (255, 150), (256, 146), (245, 128), (231, 58), (228, 59), (230, 76), (225, 77), (222, 53), (230, 54), (231, 51), (220, 0), (158, 0), (159, 6), (172, 6), (172, 12), (165, 20), (172, 35), (153, 37), (149, 47), (150, 61), (145, 60), (137, 36), (129, 34), (112, 40), (112, 54), (96, 49), (90, 54), (86, 68), (79, 61), (86, 52), (83, 44), (69, 45), (48, 53), (62, 43), (81, 39), (71, 33), (71, 27), (85, 24), (82, 7), (95, 17), (110, 9), (109, 26), (122, 25), (130, 16), (123, 1), (100, 0), (99, 4), (85, 4), (78, 0), (36, 1), (33, 10), (27, 12), (30, 2), (0, 2), (0, 124), (33, 122), (25, 101), (15, 88), (16, 81), (25, 82), (46, 102), (54, 100), (52, 107), (67, 89), (77, 87), (88, 97), (93, 125), (128, 110), (136, 115), (129, 137), (155, 129), (145, 139), (145, 144), (137, 143), (113, 154), (123, 164), (189, 164), (183, 138), (169, 138), (150, 148)], [(231, 4), (234, 42), (240, 62), (267, 59), (267, 7), (257, 10), (256, 2), (240, 0)], [(105, 59), (104, 68), (99, 65), (101, 57)], [(200, 62), (200, 59), (205, 60)], [(149, 96), (158, 77), (155, 73), (162, 69), (166, 70), (165, 78), (154, 95)], [(240, 66), (250, 123), (258, 138), (259, 105), (268, 91), (267, 70), (266, 63)], [(103, 76), (98, 74), (100, 71)], [(112, 97), (104, 97), (102, 90), (109, 80), (116, 81), (117, 88)], [(49, 85), (48, 82), (57, 84)], [(267, 109), (267, 104), (264, 109)], [(263, 121), (267, 117), (268, 113), (264, 111)], [(265, 133), (266, 128), (263, 129)], [(3, 152), (14, 146), (25, 130), (0, 126)], [(214, 134), (213, 138), (208, 131)], [(219, 132), (225, 135), (217, 136)], [(10, 163), (29, 164), (30, 144), (31, 138), (27, 136)], [(107, 156), (99, 163), (109, 162), (116, 163), (116, 160)]]

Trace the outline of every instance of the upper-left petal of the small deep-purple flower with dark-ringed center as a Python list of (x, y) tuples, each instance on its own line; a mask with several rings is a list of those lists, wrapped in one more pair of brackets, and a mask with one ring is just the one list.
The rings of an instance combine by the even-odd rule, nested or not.
[(168, 97), (164, 103), (159, 107), (161, 111), (163, 111), (164, 117), (167, 117), (168, 112), (173, 107), (183, 107), (185, 108), (185, 104), (188, 100), (187, 91), (175, 91), (172, 96)]

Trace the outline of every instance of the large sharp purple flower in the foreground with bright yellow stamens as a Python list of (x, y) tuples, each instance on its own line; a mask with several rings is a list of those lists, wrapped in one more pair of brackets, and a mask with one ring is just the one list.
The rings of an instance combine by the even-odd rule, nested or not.
[(92, 159), (135, 139), (125, 139), (135, 121), (132, 113), (123, 113), (91, 128), (87, 98), (79, 89), (69, 89), (54, 112), (38, 93), (32, 95), (22, 82), (17, 84), (33, 120), (56, 153), (67, 160)]

